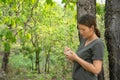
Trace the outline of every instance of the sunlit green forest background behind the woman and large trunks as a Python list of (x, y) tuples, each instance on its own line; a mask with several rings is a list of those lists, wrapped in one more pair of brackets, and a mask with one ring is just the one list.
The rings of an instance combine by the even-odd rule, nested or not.
[[(72, 80), (65, 46), (79, 45), (77, 0), (0, 0), (0, 80)], [(97, 26), (105, 43), (105, 4), (96, 3)], [(108, 52), (104, 55), (109, 78)]]

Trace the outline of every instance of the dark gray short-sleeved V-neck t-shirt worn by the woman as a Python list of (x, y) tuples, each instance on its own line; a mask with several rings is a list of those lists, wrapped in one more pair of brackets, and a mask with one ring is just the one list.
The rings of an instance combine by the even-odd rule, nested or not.
[[(93, 60), (103, 60), (104, 44), (101, 39), (92, 41), (87, 46), (85, 39), (83, 39), (78, 47), (76, 54), (89, 63)], [(97, 76), (91, 72), (86, 71), (79, 63), (74, 62), (73, 80), (98, 80)]]

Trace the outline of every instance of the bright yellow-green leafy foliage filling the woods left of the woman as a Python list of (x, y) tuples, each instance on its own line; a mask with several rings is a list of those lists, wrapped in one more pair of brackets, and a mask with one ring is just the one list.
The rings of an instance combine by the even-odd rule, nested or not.
[[(33, 67), (34, 70), (36, 52), (38, 52), (40, 70), (47, 73), (44, 70), (45, 64), (48, 66), (47, 56), (50, 55), (48, 68), (51, 74), (47, 75), (47, 79), (56, 77), (59, 80), (63, 74), (66, 75), (71, 70), (71, 68), (63, 70), (68, 63), (63, 54), (64, 47), (69, 46), (76, 50), (78, 45), (78, 38), (75, 38), (76, 12), (69, 7), (65, 10), (52, 0), (44, 1), (1, 0), (0, 40), (5, 51), (14, 51), (14, 43), (20, 45), (16, 50), (20, 49), (21, 53), (15, 53), (16, 55), (12, 53), (10, 56), (10, 63), (16, 68), (30, 70)], [(73, 4), (71, 5), (74, 7)], [(55, 68), (58, 70), (54, 70)], [(44, 80), (45, 74), (41, 75), (43, 76), (40, 80)], [(33, 76), (30, 74), (28, 77)]]

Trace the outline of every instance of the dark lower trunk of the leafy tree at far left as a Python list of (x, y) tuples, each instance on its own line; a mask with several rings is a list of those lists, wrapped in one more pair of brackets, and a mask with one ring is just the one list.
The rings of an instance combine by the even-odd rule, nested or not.
[(9, 62), (9, 54), (10, 52), (5, 52), (4, 56), (3, 56), (3, 60), (2, 60), (2, 69), (7, 72), (7, 66), (8, 66), (8, 62)]

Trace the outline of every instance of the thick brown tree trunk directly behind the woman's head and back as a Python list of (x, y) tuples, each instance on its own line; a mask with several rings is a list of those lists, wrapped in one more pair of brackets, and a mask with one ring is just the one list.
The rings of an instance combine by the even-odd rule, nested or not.
[[(96, 17), (96, 0), (78, 0), (77, 1), (77, 20), (84, 14), (91, 14)], [(82, 38), (79, 35), (79, 41)], [(98, 80), (104, 80), (104, 71), (102, 68), (101, 73), (98, 75)]]

